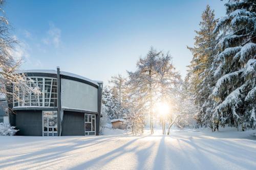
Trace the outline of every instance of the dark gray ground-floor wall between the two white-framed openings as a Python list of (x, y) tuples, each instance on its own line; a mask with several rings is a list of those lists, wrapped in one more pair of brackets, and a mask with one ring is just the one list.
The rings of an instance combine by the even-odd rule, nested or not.
[(84, 113), (64, 111), (61, 136), (84, 136)]

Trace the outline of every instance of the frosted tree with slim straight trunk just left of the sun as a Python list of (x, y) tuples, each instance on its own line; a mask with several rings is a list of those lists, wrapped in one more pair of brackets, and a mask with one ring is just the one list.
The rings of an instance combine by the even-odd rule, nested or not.
[(153, 47), (150, 48), (144, 58), (140, 58), (137, 62), (137, 70), (135, 72), (127, 71), (129, 75), (129, 83), (132, 84), (132, 93), (143, 95), (145, 103), (149, 103), (150, 127), (151, 134), (153, 129), (153, 94), (156, 92), (157, 85), (157, 65), (159, 62), (160, 52)]

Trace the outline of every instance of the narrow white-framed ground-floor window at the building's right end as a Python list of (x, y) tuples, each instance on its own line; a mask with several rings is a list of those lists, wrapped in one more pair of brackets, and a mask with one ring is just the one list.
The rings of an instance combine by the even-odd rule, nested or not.
[(84, 114), (85, 135), (95, 135), (95, 114)]

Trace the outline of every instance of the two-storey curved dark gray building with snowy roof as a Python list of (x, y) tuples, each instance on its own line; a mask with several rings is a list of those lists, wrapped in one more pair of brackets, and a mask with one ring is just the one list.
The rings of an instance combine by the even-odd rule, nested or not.
[[(20, 72), (21, 73), (21, 72)], [(101, 112), (102, 82), (57, 70), (26, 70), (30, 87), (41, 93), (22, 93), (22, 98), (8, 105), (10, 124), (17, 135), (73, 136), (98, 135)], [(22, 93), (22, 94), (20, 94)]]

